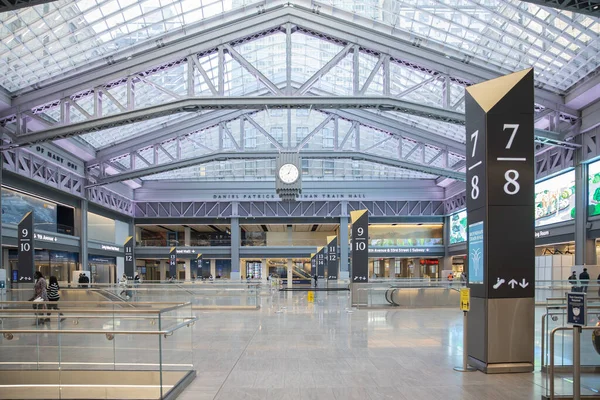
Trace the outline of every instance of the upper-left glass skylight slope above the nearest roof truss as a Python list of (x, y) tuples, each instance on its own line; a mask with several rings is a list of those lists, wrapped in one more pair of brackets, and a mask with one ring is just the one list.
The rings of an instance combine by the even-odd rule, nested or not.
[[(255, 2), (255, 1), (254, 1)], [(59, 0), (0, 14), (10, 92), (253, 1)]]

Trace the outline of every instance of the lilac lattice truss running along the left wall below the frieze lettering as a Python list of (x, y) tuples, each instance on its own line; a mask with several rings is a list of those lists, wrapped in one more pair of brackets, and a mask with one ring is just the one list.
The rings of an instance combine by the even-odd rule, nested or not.
[(85, 178), (24, 148), (5, 150), (3, 169), (131, 216), (133, 202), (106, 188), (85, 189)]

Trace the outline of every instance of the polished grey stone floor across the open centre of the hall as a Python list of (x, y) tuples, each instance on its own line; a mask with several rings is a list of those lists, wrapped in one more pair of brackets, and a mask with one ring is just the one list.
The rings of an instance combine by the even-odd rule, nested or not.
[(453, 371), (462, 355), (457, 309), (348, 313), (346, 293), (325, 292), (314, 303), (306, 292), (262, 301), (258, 311), (198, 313), (198, 375), (180, 399), (539, 400), (544, 393), (540, 372)]

